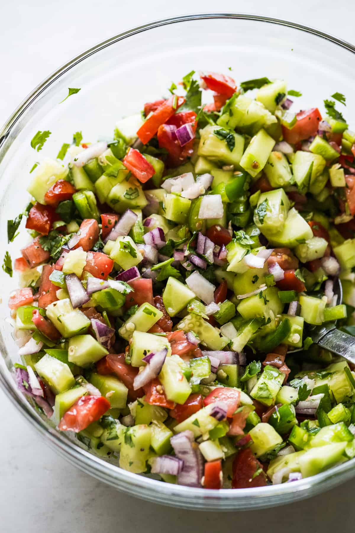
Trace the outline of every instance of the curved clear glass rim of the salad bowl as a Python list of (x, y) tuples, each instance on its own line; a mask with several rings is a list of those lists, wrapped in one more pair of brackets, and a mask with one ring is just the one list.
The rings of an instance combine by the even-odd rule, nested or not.
[[(142, 33), (143, 31), (180, 22), (205, 19), (249, 20), (289, 27), (326, 39), (326, 41), (341, 46), (343, 49), (355, 54), (355, 46), (333, 35), (329, 35), (323, 31), (295, 22), (275, 19), (272, 17), (263, 17), (262, 15), (231, 12), (196, 13), (156, 20), (143, 26), (129, 29), (121, 34), (106, 39), (106, 41), (96, 44), (92, 48), (73, 58), (68, 63), (63, 64), (63, 66), (45, 78), (43, 82), (40, 83), (27, 96), (27, 98), (20, 103), (19, 107), (14, 110), (12, 115), (0, 130), (0, 149), (7, 136), (9, 136), (11, 129), (20, 120), (21, 116), (26, 112), (31, 104), (40, 96), (40, 94), (54, 84), (57, 79), (65, 74), (65, 72), (76, 66), (76, 64), (79, 62), (89, 58), (90, 55), (99, 52), (114, 43), (122, 41), (122, 39)], [(2, 155), (4, 155), (4, 151)], [(79, 467), (81, 470), (90, 473), (97, 479), (110, 484), (112, 487), (122, 490), (130, 495), (150, 500), (151, 502), (191, 509), (195, 508), (196, 510), (200, 509), (211, 511), (233, 511), (238, 509), (246, 510), (247, 508), (262, 508), (272, 505), (282, 505), (283, 503), (290, 503), (292, 500), (308, 497), (311, 493), (312, 495), (319, 494), (320, 492), (328, 490), (329, 488), (334, 487), (337, 484), (340, 484), (343, 481), (351, 479), (355, 476), (354, 458), (311, 478), (262, 488), (205, 490), (202, 488), (190, 488), (163, 483), (161, 481), (145, 478), (141, 475), (136, 475), (131, 472), (118, 469), (117, 466), (106, 463), (99, 457), (90, 454), (88, 451), (77, 446), (74, 442), (65, 439), (60, 432), (48, 427), (43, 419), (36, 414), (34, 409), (32, 409), (29, 403), (19, 398), (9, 383), (9, 374), (4, 370), (3, 367), (0, 367), (0, 385), (12, 403), (20, 410), (22, 415), (26, 417), (31, 425), (45, 437), (48, 445), (56, 450), (57, 453), (59, 453), (65, 459), (67, 459), (67, 461)]]

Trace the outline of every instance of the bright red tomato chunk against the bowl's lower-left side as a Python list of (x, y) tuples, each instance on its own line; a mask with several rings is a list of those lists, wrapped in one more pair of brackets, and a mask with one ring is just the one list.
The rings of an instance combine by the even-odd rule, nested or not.
[(61, 431), (85, 430), (110, 409), (111, 404), (104, 396), (82, 396), (64, 414), (58, 427)]

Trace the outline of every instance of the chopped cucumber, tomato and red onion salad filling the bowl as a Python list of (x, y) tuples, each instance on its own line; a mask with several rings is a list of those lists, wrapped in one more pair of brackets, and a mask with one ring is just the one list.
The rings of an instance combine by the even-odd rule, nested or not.
[(32, 167), (8, 222), (9, 242), (22, 218), (32, 239), (9, 301), (19, 389), (164, 482), (262, 487), (348, 461), (354, 368), (310, 336), (334, 320), (355, 335), (345, 97), (294, 112), (283, 80), (194, 71), (169, 91)]

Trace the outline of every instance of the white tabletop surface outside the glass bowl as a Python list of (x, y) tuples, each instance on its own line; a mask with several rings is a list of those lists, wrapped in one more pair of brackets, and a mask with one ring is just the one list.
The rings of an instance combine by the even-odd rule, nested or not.
[[(97, 42), (151, 20), (220, 8), (292, 20), (354, 41), (355, 4), (350, 0), (225, 0), (222, 4), (216, 0), (2, 0), (0, 6), (0, 123), (62, 63)], [(0, 405), (3, 533), (353, 530), (355, 482), (305, 502), (265, 511), (222, 514), (162, 507), (120, 494), (75, 469), (45, 445), (1, 391)]]

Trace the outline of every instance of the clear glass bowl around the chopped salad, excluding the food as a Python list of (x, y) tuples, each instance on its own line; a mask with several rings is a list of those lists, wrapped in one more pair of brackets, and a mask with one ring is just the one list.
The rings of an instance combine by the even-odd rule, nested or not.
[[(0, 131), (1, 249), (13, 259), (26, 243), (26, 231), (7, 245), (6, 221), (28, 203), (29, 171), (43, 156), (55, 156), (63, 142), (82, 131), (84, 141), (111, 138), (115, 121), (161, 98), (171, 82), (191, 70), (228, 72), (238, 82), (268, 76), (284, 78), (303, 96), (296, 108), (319, 106), (335, 91), (349, 96), (346, 119), (355, 123), (355, 48), (315, 29), (257, 15), (209, 13), (152, 22), (94, 46), (44, 80), (14, 111)], [(63, 103), (68, 87), (81, 91)], [(30, 141), (52, 132), (42, 151)], [(23, 228), (23, 223), (22, 223)], [(245, 510), (294, 502), (336, 486), (355, 474), (355, 459), (312, 478), (282, 485), (204, 490), (163, 483), (119, 469), (58, 432), (40, 417), (15, 387), (11, 373), (18, 360), (7, 300), (16, 277), (1, 271), (0, 382), (30, 424), (48, 444), (81, 470), (128, 494), (151, 502), (200, 510)]]

